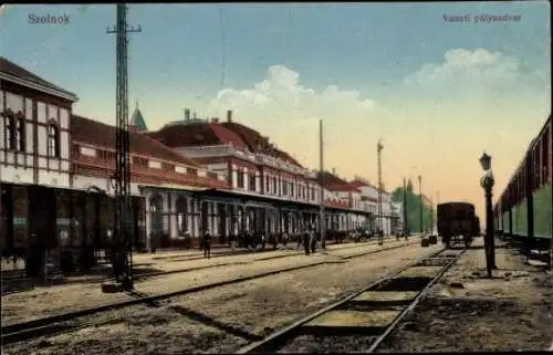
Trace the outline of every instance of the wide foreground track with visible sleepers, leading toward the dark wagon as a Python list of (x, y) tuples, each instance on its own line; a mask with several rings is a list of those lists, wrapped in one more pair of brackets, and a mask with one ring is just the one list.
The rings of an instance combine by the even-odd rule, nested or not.
[(466, 251), (442, 249), (237, 353), (373, 353)]

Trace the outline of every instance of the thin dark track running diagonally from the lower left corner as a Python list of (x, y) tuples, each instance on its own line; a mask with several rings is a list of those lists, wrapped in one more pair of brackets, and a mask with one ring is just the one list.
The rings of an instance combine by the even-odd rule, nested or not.
[(95, 306), (95, 307), (90, 307), (90, 309), (84, 309), (84, 310), (71, 311), (71, 312), (51, 315), (51, 316), (46, 316), (46, 317), (42, 317), (42, 319), (38, 319), (38, 320), (31, 320), (28, 322), (21, 322), (21, 323), (15, 323), (15, 324), (2, 326), (1, 327), (1, 342), (2, 342), (2, 344), (11, 344), (11, 343), (17, 343), (17, 342), (28, 341), (31, 338), (36, 338), (39, 336), (53, 335), (53, 334), (74, 331), (74, 330), (79, 330), (79, 328), (83, 328), (83, 327), (94, 326), (97, 324), (93, 324), (90, 321), (81, 322), (81, 321), (79, 321), (79, 319), (82, 319), (82, 317), (85, 317), (88, 315), (93, 315), (96, 313), (108, 312), (112, 310), (117, 310), (117, 309), (123, 309), (123, 307), (129, 307), (133, 305), (146, 305), (146, 306), (150, 306), (150, 307), (158, 307), (158, 306), (160, 306), (160, 301), (169, 300), (171, 297), (176, 297), (176, 296), (180, 296), (180, 295), (185, 295), (185, 294), (190, 294), (190, 293), (201, 292), (205, 290), (216, 289), (216, 288), (220, 288), (220, 286), (225, 286), (225, 285), (229, 285), (229, 284), (257, 280), (257, 279), (267, 278), (267, 276), (271, 276), (271, 275), (275, 275), (275, 274), (281, 274), (284, 272), (292, 272), (292, 271), (296, 271), (296, 270), (314, 268), (314, 267), (319, 267), (319, 265), (323, 265), (323, 264), (344, 263), (344, 262), (347, 262), (347, 260), (349, 260), (349, 259), (366, 257), (369, 254), (379, 253), (379, 252), (389, 251), (389, 250), (395, 250), (395, 249), (404, 248), (407, 246), (413, 246), (416, 243), (419, 243), (419, 241), (415, 240), (413, 242), (405, 243), (405, 244), (393, 246), (393, 247), (377, 249), (377, 250), (371, 250), (371, 251), (366, 251), (366, 252), (354, 254), (354, 255), (338, 257), (337, 260), (335, 260), (335, 261), (319, 261), (319, 262), (310, 263), (306, 265), (291, 267), (291, 268), (280, 269), (280, 270), (275, 270), (275, 271), (269, 271), (269, 272), (264, 272), (264, 273), (255, 274), (255, 275), (240, 276), (240, 278), (236, 278), (236, 279), (231, 279), (231, 280), (209, 283), (209, 284), (205, 284), (205, 285), (188, 288), (188, 289), (168, 292), (168, 293), (163, 293), (163, 294), (148, 295), (148, 294), (144, 294), (144, 293), (140, 293), (137, 291), (133, 291), (129, 293), (129, 295), (133, 296), (132, 300), (104, 304), (101, 306)]

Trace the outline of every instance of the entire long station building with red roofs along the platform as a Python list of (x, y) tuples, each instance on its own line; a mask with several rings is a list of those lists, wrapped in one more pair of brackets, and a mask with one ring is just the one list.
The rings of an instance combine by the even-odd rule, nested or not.
[[(0, 60), (2, 254), (58, 265), (96, 260), (112, 233), (115, 127), (73, 113), (75, 94)], [(137, 105), (131, 150), (137, 249), (194, 247), (206, 228), (219, 243), (319, 229), (321, 199), (331, 237), (375, 226), (374, 190), (305, 168), (231, 111), (221, 122), (187, 109), (148, 132)]]

